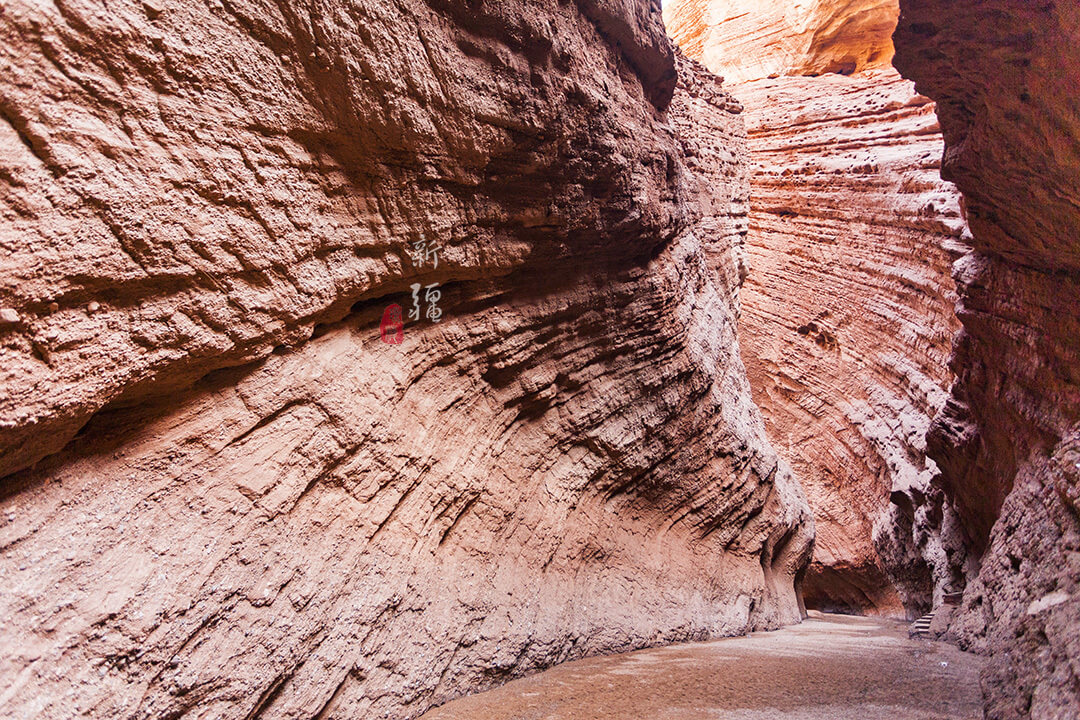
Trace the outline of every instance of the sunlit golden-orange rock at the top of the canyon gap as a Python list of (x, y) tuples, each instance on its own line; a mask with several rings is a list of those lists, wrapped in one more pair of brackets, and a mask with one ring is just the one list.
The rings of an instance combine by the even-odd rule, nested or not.
[(852, 72), (892, 58), (896, 0), (667, 0), (667, 32), (734, 82)]

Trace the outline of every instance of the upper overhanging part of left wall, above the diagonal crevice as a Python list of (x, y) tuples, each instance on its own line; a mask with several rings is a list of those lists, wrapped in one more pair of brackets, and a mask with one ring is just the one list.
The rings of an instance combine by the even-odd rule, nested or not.
[(672, 51), (622, 4), (6, 9), (0, 475), (407, 288), (409, 241), (445, 284), (670, 236)]

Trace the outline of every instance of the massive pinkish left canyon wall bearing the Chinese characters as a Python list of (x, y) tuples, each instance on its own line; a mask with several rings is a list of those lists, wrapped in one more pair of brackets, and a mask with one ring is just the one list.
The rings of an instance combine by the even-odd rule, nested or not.
[(0, 23), (0, 714), (414, 717), (799, 619), (739, 107), (659, 3)]

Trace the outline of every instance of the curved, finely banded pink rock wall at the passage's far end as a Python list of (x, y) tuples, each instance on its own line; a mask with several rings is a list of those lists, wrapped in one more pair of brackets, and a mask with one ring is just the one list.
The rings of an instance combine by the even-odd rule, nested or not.
[(926, 433), (951, 382), (964, 232), (933, 103), (893, 70), (732, 93), (754, 166), (740, 342), (816, 519), (807, 603), (924, 611), (950, 580), (940, 522), (915, 506), (936, 473)]

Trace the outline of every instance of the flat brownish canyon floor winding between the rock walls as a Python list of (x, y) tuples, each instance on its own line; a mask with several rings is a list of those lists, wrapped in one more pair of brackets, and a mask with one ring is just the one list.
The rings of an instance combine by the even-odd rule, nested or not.
[(890, 620), (811, 613), (774, 633), (589, 657), (421, 720), (969, 720), (981, 660)]

